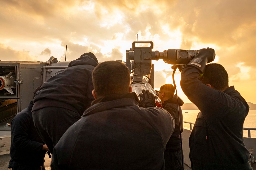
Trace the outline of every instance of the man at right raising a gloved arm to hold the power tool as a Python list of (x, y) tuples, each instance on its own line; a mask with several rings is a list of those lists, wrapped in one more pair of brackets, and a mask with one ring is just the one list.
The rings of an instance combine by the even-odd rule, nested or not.
[(243, 143), (243, 123), (249, 106), (220, 64), (208, 64), (214, 49), (197, 51), (182, 70), (180, 85), (200, 112), (189, 137), (192, 169), (252, 170)]

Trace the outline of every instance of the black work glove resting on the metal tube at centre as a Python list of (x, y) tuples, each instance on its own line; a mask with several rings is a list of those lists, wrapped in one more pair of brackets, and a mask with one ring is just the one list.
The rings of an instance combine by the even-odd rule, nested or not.
[(141, 98), (139, 106), (143, 108), (156, 107), (155, 96), (148, 90), (141, 90), (141, 92), (142, 93), (139, 94)]

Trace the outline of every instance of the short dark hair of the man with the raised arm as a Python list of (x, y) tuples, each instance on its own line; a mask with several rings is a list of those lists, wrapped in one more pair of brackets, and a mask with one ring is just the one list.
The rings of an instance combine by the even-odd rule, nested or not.
[(202, 83), (210, 84), (214, 89), (224, 91), (228, 88), (228, 73), (220, 64), (207, 64)]

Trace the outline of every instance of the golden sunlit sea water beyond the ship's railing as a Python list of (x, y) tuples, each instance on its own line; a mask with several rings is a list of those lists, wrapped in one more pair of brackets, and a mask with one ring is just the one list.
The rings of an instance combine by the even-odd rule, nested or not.
[[(195, 123), (198, 112), (199, 110), (182, 110), (183, 121)], [(188, 123), (184, 123), (183, 126), (190, 128)], [(244, 120), (243, 127), (256, 128), (256, 110), (249, 110), (249, 113)], [(243, 137), (248, 137), (248, 130), (243, 130)], [(251, 137), (256, 138), (256, 130), (251, 130)]]

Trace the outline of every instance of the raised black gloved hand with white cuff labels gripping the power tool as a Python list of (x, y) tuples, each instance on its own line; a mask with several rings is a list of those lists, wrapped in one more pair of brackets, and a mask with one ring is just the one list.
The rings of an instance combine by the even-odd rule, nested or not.
[(194, 66), (203, 74), (205, 73), (206, 64), (215, 59), (215, 51), (212, 48), (203, 48), (197, 50), (197, 55), (186, 66)]

